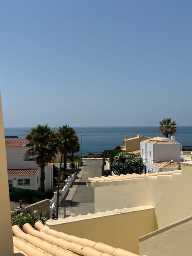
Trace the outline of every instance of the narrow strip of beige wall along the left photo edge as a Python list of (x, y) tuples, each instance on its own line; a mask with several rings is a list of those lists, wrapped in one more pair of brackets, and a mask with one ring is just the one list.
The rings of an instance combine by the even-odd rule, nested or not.
[(13, 238), (11, 230), (11, 215), (8, 189), (7, 162), (4, 138), (4, 125), (2, 115), (2, 104), (0, 97), (0, 163), (1, 163), (1, 178), (0, 178), (0, 201), (2, 202), (1, 218), (0, 218), (0, 250), (1, 256), (12, 256), (13, 254)]

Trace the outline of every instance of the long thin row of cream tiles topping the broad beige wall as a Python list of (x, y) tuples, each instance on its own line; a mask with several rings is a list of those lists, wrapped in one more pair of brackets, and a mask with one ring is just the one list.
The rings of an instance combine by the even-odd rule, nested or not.
[(137, 178), (145, 178), (145, 177), (152, 177), (152, 176), (158, 176), (158, 175), (172, 175), (175, 173), (181, 173), (181, 170), (174, 170), (174, 171), (168, 171), (168, 172), (155, 172), (155, 173), (146, 173), (146, 174), (120, 174), (120, 175), (114, 175), (114, 176), (101, 176), (101, 177), (94, 177), (94, 178), (88, 178), (88, 180), (94, 183), (92, 184), (93, 186), (100, 186), (104, 185), (105, 182), (106, 184), (109, 184), (109, 182), (119, 182), (119, 181), (124, 181), (130, 180), (130, 179), (137, 179)]

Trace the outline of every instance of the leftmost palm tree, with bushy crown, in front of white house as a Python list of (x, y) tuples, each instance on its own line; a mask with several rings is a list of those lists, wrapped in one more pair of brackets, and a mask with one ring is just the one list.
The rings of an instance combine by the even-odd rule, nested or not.
[(26, 136), (28, 143), (26, 147), (28, 156), (36, 156), (35, 160), (40, 166), (40, 190), (45, 190), (45, 166), (58, 152), (57, 137), (54, 131), (46, 124), (36, 126)]

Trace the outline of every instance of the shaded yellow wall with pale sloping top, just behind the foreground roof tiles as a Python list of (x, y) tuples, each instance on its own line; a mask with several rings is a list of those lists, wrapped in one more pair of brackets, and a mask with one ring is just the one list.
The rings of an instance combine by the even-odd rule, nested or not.
[(49, 228), (138, 254), (138, 237), (158, 228), (154, 208), (138, 207), (46, 222)]

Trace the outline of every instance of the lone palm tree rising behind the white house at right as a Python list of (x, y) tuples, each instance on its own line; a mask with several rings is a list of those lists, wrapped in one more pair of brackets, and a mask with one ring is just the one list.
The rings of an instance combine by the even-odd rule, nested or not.
[(177, 130), (177, 123), (175, 121), (172, 121), (171, 118), (163, 118), (159, 122), (160, 126), (158, 128), (158, 131), (162, 133), (162, 135), (166, 136), (166, 138), (172, 136), (176, 133)]

